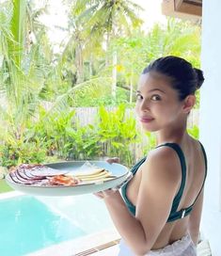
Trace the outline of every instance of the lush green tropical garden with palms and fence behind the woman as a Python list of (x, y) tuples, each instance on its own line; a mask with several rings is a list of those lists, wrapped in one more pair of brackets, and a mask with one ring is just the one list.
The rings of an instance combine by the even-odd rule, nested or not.
[[(21, 163), (105, 159), (131, 167), (155, 145), (134, 117), (139, 74), (154, 58), (200, 66), (200, 24), (169, 18), (146, 31), (131, 1), (63, 1), (59, 50), (40, 22), (47, 1), (0, 2), (0, 171)], [(200, 95), (197, 94), (197, 103)], [(189, 132), (198, 136), (197, 114)], [(194, 116), (194, 117), (193, 117)], [(8, 191), (4, 180), (1, 191)]]

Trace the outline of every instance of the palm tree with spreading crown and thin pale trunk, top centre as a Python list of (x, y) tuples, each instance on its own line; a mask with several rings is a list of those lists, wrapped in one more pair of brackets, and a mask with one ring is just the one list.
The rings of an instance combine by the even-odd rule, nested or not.
[[(137, 16), (142, 8), (132, 1), (125, 0), (76, 0), (73, 17), (77, 16), (76, 24), (80, 27), (86, 40), (85, 47), (92, 49), (95, 45), (109, 50), (110, 41), (123, 35), (129, 35), (134, 27), (142, 24)], [(108, 55), (106, 65), (109, 64)], [(116, 95), (117, 83), (117, 52), (113, 53), (113, 84), (112, 94)]]

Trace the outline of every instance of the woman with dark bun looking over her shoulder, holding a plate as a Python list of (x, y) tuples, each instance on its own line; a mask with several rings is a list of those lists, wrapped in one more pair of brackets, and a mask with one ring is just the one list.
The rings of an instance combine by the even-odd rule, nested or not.
[(203, 81), (177, 56), (158, 58), (141, 74), (135, 111), (143, 129), (156, 133), (157, 147), (134, 166), (122, 196), (96, 194), (122, 237), (120, 256), (197, 255), (207, 161), (186, 124)]

